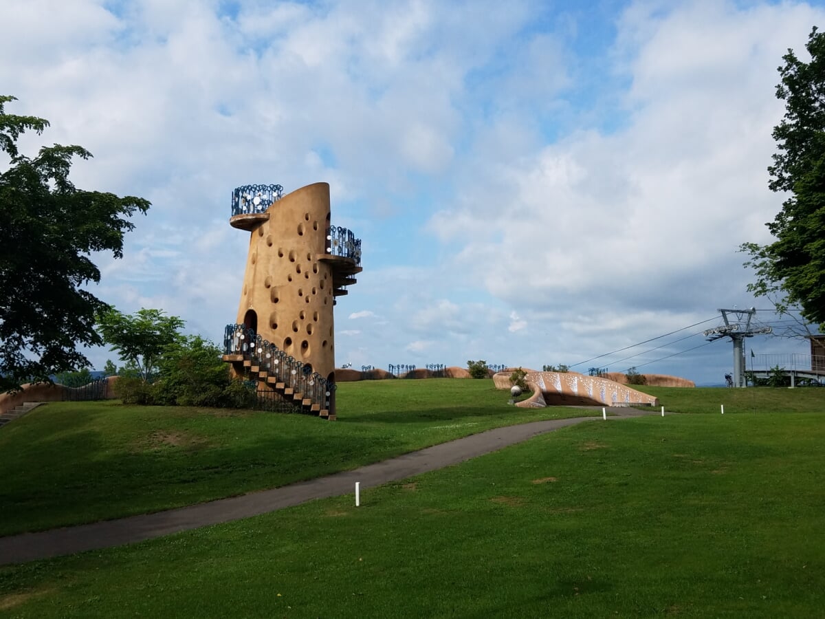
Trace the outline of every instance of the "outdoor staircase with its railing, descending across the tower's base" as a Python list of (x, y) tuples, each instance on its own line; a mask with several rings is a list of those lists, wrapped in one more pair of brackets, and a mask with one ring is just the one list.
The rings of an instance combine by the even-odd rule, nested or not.
[(223, 358), (232, 363), (238, 376), (266, 385), (266, 390), (274, 391), (302, 412), (335, 419), (335, 414), (330, 414), (330, 401), (336, 385), (251, 328), (243, 324), (226, 326)]

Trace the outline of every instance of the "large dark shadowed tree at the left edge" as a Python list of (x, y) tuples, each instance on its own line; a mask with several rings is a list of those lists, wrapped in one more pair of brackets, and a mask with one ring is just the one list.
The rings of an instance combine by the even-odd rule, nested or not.
[(7, 114), (14, 100), (0, 96), (0, 149), (10, 159), (0, 172), (0, 393), (90, 365), (79, 348), (102, 343), (95, 316), (108, 308), (81, 288), (100, 281), (90, 257), (122, 258), (129, 218), (149, 207), (142, 198), (74, 187), (73, 158), (92, 157), (81, 146), (20, 154), (20, 135), (41, 134), (49, 121)]

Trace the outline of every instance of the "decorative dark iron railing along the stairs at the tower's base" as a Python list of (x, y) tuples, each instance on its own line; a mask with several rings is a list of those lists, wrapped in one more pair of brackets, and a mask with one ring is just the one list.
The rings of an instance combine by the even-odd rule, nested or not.
[(226, 325), (224, 354), (242, 355), (244, 361), (250, 361), (259, 371), (275, 376), (278, 382), (294, 393), (303, 394), (304, 398), (311, 399), (313, 404), (320, 404), (322, 409), (329, 410), (330, 398), (337, 385), (318, 372), (312, 371), (310, 366), (286, 354), (246, 325)]

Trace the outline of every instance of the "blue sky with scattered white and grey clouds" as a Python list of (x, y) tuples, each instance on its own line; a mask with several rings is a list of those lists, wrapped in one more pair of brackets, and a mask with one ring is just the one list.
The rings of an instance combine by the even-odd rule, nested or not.
[(152, 202), (123, 259), (95, 257), (90, 289), (123, 312), (222, 342), (248, 245), (233, 189), (328, 182), (364, 268), (335, 308), (337, 366), (711, 385), (733, 369), (729, 339), (702, 335), (719, 308), (779, 326), (738, 247), (771, 241), (776, 69), (823, 17), (794, 0), (0, 0), (0, 94), (50, 120), (23, 152), (81, 144), (77, 187)]

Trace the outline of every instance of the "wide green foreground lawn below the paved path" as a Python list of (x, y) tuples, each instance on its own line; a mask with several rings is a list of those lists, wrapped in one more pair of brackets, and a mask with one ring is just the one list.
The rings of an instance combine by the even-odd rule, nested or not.
[(0, 569), (0, 617), (821, 617), (822, 413), (585, 423), (362, 493)]

